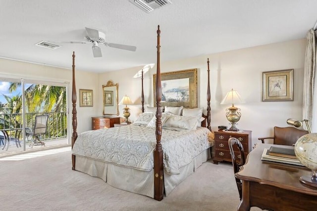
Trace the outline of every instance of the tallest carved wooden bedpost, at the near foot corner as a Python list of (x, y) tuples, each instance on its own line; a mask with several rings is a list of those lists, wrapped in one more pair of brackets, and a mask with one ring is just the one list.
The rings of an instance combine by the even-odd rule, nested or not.
[(161, 201), (163, 199), (163, 185), (164, 185), (164, 172), (163, 172), (163, 150), (160, 142), (160, 138), (162, 135), (162, 122), (161, 116), (162, 112), (160, 110), (160, 101), (162, 98), (162, 87), (160, 81), (160, 46), (159, 46), (159, 38), (160, 38), (160, 30), (158, 26), (158, 46), (157, 46), (157, 78), (156, 78), (156, 105), (157, 105), (157, 113), (156, 113), (156, 130), (155, 135), (157, 139), (157, 144), (154, 151), (154, 199)]

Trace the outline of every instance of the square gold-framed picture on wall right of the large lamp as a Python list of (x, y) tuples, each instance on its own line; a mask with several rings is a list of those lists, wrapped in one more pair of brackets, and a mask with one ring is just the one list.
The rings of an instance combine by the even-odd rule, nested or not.
[(294, 69), (263, 72), (263, 101), (293, 101)]

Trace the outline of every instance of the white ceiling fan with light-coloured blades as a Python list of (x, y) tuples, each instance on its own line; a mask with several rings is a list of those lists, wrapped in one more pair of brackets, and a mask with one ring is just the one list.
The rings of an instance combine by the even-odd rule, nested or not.
[(76, 42), (76, 41), (70, 41), (70, 42), (62, 42), (62, 43), (73, 43), (73, 44), (93, 44), (93, 54), (94, 57), (102, 57), (101, 49), (99, 47), (100, 44), (110, 47), (110, 48), (116, 48), (116, 49), (123, 49), (127, 51), (135, 52), (137, 47), (135, 46), (127, 46), (127, 45), (121, 45), (121, 44), (115, 44), (115, 43), (107, 43), (105, 42), (106, 35), (105, 33), (97, 30), (97, 29), (91, 29), (85, 27), (87, 36), (85, 36), (85, 40), (87, 42)]

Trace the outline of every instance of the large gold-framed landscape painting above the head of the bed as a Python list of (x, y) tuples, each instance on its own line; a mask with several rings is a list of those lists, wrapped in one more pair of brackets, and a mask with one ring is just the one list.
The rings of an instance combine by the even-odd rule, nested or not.
[[(197, 107), (197, 69), (161, 73), (160, 78), (161, 106)], [(153, 74), (154, 106), (156, 106), (156, 79), (157, 74)]]

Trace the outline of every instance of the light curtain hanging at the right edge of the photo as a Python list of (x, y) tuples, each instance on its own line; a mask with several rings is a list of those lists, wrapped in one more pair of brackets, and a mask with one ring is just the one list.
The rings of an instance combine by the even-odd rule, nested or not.
[[(317, 131), (317, 108), (314, 108), (314, 99), (317, 101), (317, 86), (315, 86), (316, 72), (316, 35), (314, 29), (307, 33), (307, 47), (304, 64), (304, 97), (303, 118), (308, 119), (312, 132)], [(317, 104), (317, 102), (315, 102)], [(315, 105), (317, 107), (317, 105)]]

